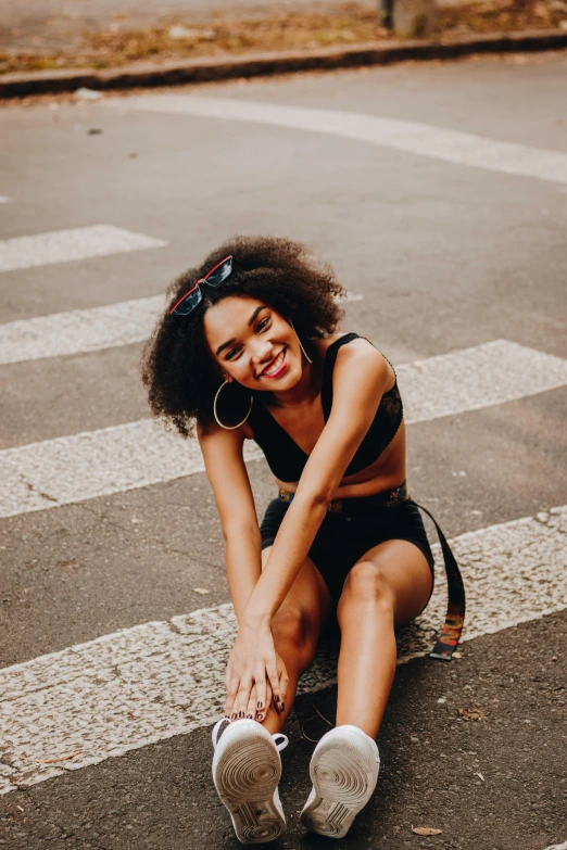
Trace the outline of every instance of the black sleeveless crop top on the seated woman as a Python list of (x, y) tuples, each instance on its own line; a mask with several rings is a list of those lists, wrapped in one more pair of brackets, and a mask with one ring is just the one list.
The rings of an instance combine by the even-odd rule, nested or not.
[[(360, 339), (357, 333), (345, 333), (327, 348), (323, 367), (320, 401), (325, 422), (332, 405), (332, 370), (341, 345)], [(257, 402), (257, 397), (256, 397)], [(403, 419), (403, 405), (398, 381), (382, 395), (376, 416), (356, 454), (346, 467), (345, 475), (354, 475), (377, 460), (394, 439)], [(254, 404), (249, 417), (254, 441), (263, 451), (272, 472), (280, 481), (299, 481), (308, 455), (291, 439), (262, 404)]]

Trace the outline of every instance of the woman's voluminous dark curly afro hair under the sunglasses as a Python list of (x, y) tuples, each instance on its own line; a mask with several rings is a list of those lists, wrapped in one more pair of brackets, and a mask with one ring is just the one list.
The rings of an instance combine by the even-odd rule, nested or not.
[[(203, 300), (189, 316), (172, 316), (168, 307), (140, 363), (154, 417), (173, 424), (185, 437), (194, 436), (196, 424), (207, 431), (214, 421), (214, 395), (223, 381), (204, 334), (203, 317), (209, 307), (227, 295), (263, 301), (293, 322), (307, 351), (310, 340), (332, 333), (343, 314), (337, 301), (345, 291), (332, 269), (316, 262), (305, 245), (276, 237), (228, 240), (172, 283), (169, 305), (229, 254), (234, 268), (228, 279), (218, 287), (203, 286)], [(247, 394), (250, 397), (250, 391)]]

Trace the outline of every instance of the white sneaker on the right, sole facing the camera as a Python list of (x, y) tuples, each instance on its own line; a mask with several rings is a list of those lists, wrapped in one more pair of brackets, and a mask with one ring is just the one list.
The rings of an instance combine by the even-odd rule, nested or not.
[(357, 726), (336, 726), (313, 752), (313, 789), (301, 822), (313, 833), (344, 838), (376, 788), (380, 756), (376, 741)]

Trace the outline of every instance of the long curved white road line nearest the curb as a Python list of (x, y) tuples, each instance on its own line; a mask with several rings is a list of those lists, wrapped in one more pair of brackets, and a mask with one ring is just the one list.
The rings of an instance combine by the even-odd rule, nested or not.
[(121, 110), (197, 115), (331, 134), (457, 165), (567, 183), (567, 154), (560, 151), (399, 118), (194, 94), (150, 94), (105, 103)]

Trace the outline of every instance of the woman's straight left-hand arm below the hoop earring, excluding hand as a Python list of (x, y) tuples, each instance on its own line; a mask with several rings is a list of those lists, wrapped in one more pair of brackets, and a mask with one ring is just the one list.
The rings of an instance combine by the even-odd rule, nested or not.
[(239, 624), (262, 573), (262, 543), (242, 456), (243, 443), (244, 435), (238, 430), (215, 429), (206, 435), (199, 433), (206, 474), (220, 518), (228, 586)]

